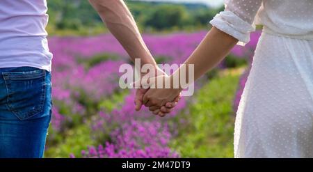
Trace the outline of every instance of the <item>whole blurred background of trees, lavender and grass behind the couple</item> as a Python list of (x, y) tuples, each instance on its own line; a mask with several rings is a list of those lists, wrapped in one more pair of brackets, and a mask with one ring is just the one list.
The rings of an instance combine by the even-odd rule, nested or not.
[[(157, 63), (183, 63), (223, 0), (125, 1)], [(233, 157), (236, 107), (260, 35), (237, 46), (166, 118), (134, 111), (118, 86), (129, 56), (86, 0), (47, 1), (54, 54), (45, 157)]]

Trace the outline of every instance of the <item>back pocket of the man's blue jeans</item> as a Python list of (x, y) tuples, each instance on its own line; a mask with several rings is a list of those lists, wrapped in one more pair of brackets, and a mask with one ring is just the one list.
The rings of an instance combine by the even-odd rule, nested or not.
[(45, 105), (45, 70), (3, 72), (6, 83), (6, 106), (19, 120), (26, 120), (42, 112)]

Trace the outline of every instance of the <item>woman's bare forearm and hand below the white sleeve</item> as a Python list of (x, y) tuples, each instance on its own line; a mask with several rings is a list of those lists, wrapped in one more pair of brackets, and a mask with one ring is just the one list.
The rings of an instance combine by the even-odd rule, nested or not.
[[(194, 65), (194, 79), (198, 79), (204, 73), (209, 71), (211, 68), (214, 68), (220, 61), (229, 54), (230, 50), (238, 40), (223, 31), (216, 29), (213, 27), (207, 36), (202, 40), (200, 45), (195, 49), (193, 54), (185, 61), (184, 65), (186, 65), (186, 70), (182, 70), (179, 68), (174, 72), (170, 77), (163, 77), (162, 79), (169, 79), (171, 82), (171, 86), (173, 86), (173, 81), (175, 80), (175, 75), (179, 75), (180, 72), (186, 72), (186, 77), (188, 77), (188, 65)], [(179, 77), (178, 77), (179, 78)], [(150, 81), (150, 86), (156, 84), (157, 79), (152, 79)], [(186, 78), (186, 81), (189, 79)], [(191, 81), (188, 82), (191, 84)], [(145, 93), (143, 97), (143, 103), (145, 106), (150, 107), (150, 111), (157, 111), (161, 106), (166, 104), (166, 102), (171, 102), (177, 97), (177, 95), (182, 91), (182, 87), (180, 88), (150, 88), (147, 93)], [(161, 109), (165, 110), (165, 109)], [(159, 114), (163, 116), (163, 114)]]

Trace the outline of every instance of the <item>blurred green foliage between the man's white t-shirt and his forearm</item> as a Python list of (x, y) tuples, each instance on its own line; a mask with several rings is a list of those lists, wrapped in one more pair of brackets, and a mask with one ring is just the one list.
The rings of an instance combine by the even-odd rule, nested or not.
[(102, 20), (88, 1), (47, 1), (49, 24), (47, 31), (58, 35), (90, 35), (105, 31)]

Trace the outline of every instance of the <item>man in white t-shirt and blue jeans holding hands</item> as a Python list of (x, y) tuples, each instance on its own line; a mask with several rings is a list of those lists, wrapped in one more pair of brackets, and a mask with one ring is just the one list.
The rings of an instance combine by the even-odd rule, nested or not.
[[(131, 60), (141, 58), (141, 65), (152, 64), (151, 70), (160, 71), (122, 0), (90, 3)], [(0, 157), (43, 156), (52, 107), (47, 22), (46, 0), (0, 2)], [(141, 109), (146, 91), (137, 90), (136, 110)], [(177, 100), (167, 107), (175, 107)], [(171, 111), (161, 109), (154, 114)]]

